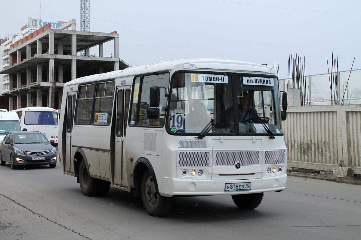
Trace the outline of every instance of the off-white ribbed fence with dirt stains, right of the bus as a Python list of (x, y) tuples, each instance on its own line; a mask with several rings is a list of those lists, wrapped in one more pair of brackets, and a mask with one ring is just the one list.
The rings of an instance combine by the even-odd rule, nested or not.
[(361, 104), (288, 107), (283, 124), (288, 167), (361, 174)]

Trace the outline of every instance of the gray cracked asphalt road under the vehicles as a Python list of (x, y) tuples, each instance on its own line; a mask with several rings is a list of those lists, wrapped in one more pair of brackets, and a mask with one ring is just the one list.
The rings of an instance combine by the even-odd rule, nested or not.
[(111, 188), (81, 193), (61, 166), (0, 166), (0, 239), (184, 240), (360, 239), (361, 186), (288, 177), (286, 190), (265, 193), (255, 210), (230, 196), (174, 198), (169, 216), (151, 217), (141, 199)]

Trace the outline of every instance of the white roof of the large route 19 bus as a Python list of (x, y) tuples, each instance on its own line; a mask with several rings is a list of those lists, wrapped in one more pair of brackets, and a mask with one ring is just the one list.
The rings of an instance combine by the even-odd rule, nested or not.
[(80, 77), (71, 80), (66, 85), (73, 85), (97, 79), (110, 79), (117, 77), (133, 76), (136, 74), (169, 71), (169, 70), (198, 70), (198, 71), (227, 71), (227, 72), (245, 72), (245, 73), (263, 73), (274, 75), (277, 77), (277, 71), (269, 66), (242, 62), (237, 60), (227, 59), (209, 59), (209, 58), (194, 58), (194, 59), (181, 59), (174, 61), (162, 61), (150, 63), (144, 66), (134, 66), (123, 70), (99, 73), (90, 76)]

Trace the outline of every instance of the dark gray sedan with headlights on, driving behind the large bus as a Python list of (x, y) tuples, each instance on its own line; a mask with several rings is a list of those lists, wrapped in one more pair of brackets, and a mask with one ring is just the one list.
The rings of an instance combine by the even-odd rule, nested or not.
[(21, 165), (56, 166), (56, 149), (41, 132), (9, 132), (0, 142), (0, 165), (10, 163), (11, 169)]

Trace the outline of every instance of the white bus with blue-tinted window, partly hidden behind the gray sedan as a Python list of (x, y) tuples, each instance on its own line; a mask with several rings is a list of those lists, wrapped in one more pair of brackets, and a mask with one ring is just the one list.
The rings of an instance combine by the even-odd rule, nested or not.
[(11, 112), (18, 114), (22, 129), (39, 131), (49, 141), (54, 140), (53, 145), (58, 145), (58, 110), (47, 107), (29, 107), (19, 108)]

